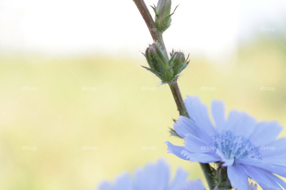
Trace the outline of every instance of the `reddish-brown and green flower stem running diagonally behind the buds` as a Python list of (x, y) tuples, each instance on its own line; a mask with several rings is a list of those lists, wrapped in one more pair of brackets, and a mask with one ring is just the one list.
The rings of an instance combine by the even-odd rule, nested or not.
[[(141, 13), (149, 31), (150, 31), (150, 34), (151, 34), (153, 40), (157, 41), (161, 44), (162, 49), (166, 53), (167, 59), (169, 60), (168, 55), (167, 55), (167, 50), (166, 50), (166, 47), (165, 47), (165, 44), (163, 41), (162, 34), (157, 29), (156, 24), (155, 24), (150, 12), (149, 12), (144, 0), (133, 0), (133, 1), (136, 4), (139, 12)], [(177, 108), (178, 108), (180, 115), (183, 115), (183, 116), (189, 118), (189, 114), (186, 110), (186, 106), (184, 104), (184, 100), (183, 100), (183, 97), (181, 95), (181, 91), (179, 89), (177, 81), (176, 80), (172, 81), (171, 83), (169, 83), (169, 86), (170, 86), (170, 89), (172, 91), (172, 94), (173, 94), (173, 97), (174, 97), (174, 100), (176, 102), (176, 105), (177, 105)], [(204, 163), (200, 163), (200, 166), (201, 166), (203, 173), (206, 177), (206, 180), (209, 184), (209, 188), (214, 189), (215, 184), (214, 184), (214, 181), (212, 178), (212, 175), (213, 175), (212, 168), (210, 167), (209, 164), (204, 164)]]

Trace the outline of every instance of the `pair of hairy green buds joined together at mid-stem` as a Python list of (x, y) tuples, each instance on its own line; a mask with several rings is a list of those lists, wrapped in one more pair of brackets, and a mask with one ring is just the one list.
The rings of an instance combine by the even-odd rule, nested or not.
[(150, 68), (144, 68), (153, 72), (164, 83), (175, 80), (189, 64), (189, 61), (185, 59), (184, 53), (174, 52), (174, 50), (170, 53), (171, 58), (168, 60), (166, 53), (157, 43), (149, 45), (144, 55), (150, 66)]

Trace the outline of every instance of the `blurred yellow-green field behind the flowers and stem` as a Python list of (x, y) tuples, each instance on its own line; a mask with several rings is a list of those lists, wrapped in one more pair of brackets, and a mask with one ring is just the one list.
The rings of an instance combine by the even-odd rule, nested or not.
[[(251, 44), (229, 64), (191, 58), (182, 94), (286, 126), (286, 47)], [(168, 132), (178, 112), (169, 87), (140, 66), (143, 57), (0, 56), (1, 190), (96, 189), (160, 157), (203, 178), (198, 164), (167, 154), (166, 140), (182, 143)]]

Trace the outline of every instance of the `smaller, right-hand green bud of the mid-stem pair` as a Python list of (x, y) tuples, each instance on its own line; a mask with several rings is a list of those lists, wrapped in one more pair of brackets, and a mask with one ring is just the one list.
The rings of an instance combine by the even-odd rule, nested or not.
[(186, 61), (184, 53), (172, 51), (170, 66), (173, 68), (175, 75), (180, 74), (180, 72), (182, 72), (182, 70), (184, 70), (188, 64), (189, 61)]

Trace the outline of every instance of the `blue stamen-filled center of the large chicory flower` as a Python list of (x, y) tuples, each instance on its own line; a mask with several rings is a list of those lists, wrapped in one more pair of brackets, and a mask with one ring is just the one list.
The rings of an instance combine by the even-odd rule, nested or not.
[(223, 131), (211, 137), (211, 145), (220, 149), (227, 159), (231, 158), (256, 158), (261, 159), (258, 149), (243, 136), (232, 136), (230, 131)]

